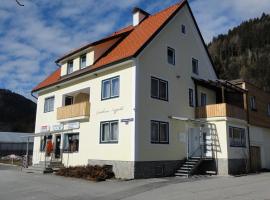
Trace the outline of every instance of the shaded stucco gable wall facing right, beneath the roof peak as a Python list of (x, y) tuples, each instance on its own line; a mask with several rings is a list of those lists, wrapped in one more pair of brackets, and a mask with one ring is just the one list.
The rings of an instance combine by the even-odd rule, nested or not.
[[(186, 26), (182, 34), (181, 25)], [(167, 62), (167, 47), (175, 49), (175, 65)], [(199, 61), (199, 75), (192, 73), (192, 58)], [(194, 118), (189, 106), (188, 90), (194, 90), (191, 77), (216, 79), (199, 33), (186, 7), (142, 51), (137, 59), (136, 91), (136, 160), (180, 160), (186, 148), (177, 140), (185, 125), (168, 116)], [(168, 81), (168, 101), (151, 98), (151, 76)], [(212, 95), (209, 96), (212, 102)], [(195, 101), (195, 99), (194, 99)], [(169, 144), (151, 144), (150, 121), (169, 122)]]

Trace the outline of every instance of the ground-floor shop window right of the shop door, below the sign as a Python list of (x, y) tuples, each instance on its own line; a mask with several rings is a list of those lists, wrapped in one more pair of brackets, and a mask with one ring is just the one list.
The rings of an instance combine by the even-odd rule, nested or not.
[(68, 133), (64, 135), (63, 150), (69, 153), (79, 151), (79, 133)]

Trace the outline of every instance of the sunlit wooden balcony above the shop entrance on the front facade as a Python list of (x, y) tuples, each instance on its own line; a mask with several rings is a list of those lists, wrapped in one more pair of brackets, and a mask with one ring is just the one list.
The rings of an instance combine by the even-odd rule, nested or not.
[(57, 108), (57, 120), (85, 119), (90, 116), (90, 103), (81, 102)]

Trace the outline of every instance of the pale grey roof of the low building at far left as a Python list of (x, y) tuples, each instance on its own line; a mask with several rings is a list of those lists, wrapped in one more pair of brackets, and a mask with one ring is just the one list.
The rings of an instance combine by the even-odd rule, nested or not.
[[(24, 143), (27, 142), (27, 136), (32, 135), (34, 133), (0, 132), (0, 143)], [(33, 137), (29, 141), (33, 142)]]

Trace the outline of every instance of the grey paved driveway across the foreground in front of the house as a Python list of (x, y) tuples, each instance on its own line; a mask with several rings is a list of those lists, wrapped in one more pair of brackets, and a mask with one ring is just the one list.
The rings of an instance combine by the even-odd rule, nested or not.
[(160, 178), (93, 183), (54, 175), (27, 174), (0, 166), (0, 199), (270, 200), (270, 173), (238, 178)]

